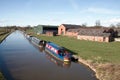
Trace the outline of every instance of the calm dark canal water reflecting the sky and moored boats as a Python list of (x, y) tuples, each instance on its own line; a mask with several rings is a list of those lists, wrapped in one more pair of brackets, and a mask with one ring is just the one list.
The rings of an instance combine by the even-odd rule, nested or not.
[(57, 61), (20, 31), (0, 44), (0, 70), (7, 80), (97, 80), (86, 66)]

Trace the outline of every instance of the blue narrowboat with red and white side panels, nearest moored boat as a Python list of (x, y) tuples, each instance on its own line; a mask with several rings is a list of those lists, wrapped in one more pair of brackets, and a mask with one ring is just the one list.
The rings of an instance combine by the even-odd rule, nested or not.
[(70, 62), (71, 61), (71, 53), (65, 50), (63, 47), (56, 45), (53, 42), (47, 42), (45, 46), (45, 51), (56, 57), (57, 59)]

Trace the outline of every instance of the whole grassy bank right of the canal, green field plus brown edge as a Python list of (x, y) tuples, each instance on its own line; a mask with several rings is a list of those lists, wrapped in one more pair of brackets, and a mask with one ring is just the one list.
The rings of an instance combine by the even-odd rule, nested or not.
[(120, 42), (101, 43), (66, 36), (32, 35), (71, 50), (96, 72), (100, 80), (120, 80)]

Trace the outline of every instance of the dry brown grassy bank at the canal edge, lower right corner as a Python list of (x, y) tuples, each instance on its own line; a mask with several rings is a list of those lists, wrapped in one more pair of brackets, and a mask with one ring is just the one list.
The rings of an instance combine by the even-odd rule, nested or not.
[(91, 68), (99, 80), (120, 80), (120, 64), (95, 63), (80, 57), (78, 61)]

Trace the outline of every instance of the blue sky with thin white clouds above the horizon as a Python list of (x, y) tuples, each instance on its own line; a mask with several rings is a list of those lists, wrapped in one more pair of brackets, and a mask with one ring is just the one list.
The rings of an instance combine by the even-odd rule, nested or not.
[(109, 26), (120, 22), (120, 0), (0, 0), (0, 26)]

